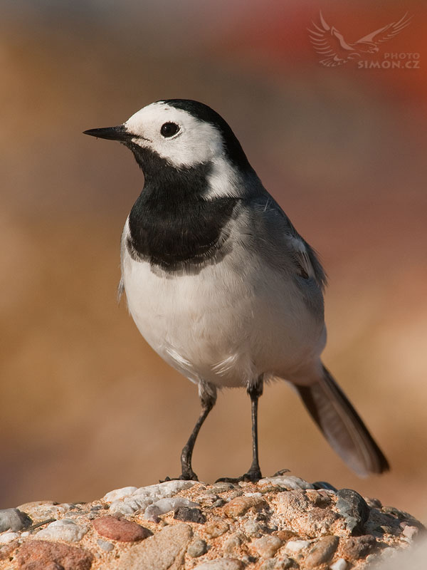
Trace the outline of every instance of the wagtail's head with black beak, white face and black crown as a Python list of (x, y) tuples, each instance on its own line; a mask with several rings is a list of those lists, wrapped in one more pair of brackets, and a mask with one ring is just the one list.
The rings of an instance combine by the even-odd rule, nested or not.
[(197, 101), (157, 101), (122, 125), (85, 130), (85, 134), (125, 144), (146, 175), (165, 165), (181, 170), (221, 160), (242, 170), (251, 168), (226, 121)]

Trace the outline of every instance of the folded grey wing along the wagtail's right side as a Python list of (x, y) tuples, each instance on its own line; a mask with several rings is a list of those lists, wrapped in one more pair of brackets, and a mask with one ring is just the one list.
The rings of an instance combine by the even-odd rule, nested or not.
[(285, 264), (287, 269), (305, 278), (315, 279), (323, 291), (327, 276), (315, 249), (298, 234), (283, 209), (265, 191), (265, 195), (252, 200), (254, 222), (258, 225), (257, 235), (273, 249), (276, 264)]

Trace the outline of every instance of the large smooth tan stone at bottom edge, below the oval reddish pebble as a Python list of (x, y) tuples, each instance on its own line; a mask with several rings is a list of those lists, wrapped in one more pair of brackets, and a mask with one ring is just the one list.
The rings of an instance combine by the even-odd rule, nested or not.
[(132, 546), (119, 559), (102, 565), (102, 570), (178, 570), (191, 539), (189, 524), (164, 527), (152, 537)]

